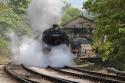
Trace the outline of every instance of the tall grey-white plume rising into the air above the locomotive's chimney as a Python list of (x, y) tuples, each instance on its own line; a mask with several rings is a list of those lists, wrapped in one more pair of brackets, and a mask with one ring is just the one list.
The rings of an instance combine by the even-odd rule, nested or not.
[(64, 7), (63, 0), (32, 0), (27, 14), (33, 31), (43, 32), (57, 24), (63, 15)]

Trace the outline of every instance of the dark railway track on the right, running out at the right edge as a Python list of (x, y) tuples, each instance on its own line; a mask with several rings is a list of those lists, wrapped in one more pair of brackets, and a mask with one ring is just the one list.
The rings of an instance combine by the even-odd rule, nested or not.
[[(64, 70), (53, 68), (53, 67), (49, 67), (49, 69), (51, 69), (53, 71), (56, 71), (56, 72), (59, 72), (59, 73), (62, 73), (62, 74), (66, 74), (66, 75), (70, 75), (70, 76), (73, 76), (73, 77), (77, 77), (77, 78), (80, 78), (80, 79), (91, 80), (92, 82), (96, 82), (96, 83), (98, 83), (98, 82), (99, 83), (125, 83), (123, 78), (120, 78), (120, 77), (117, 77), (117, 76), (113, 77), (113, 76), (107, 75), (107, 77), (105, 77), (106, 75), (95, 73), (95, 72), (94, 73), (90, 72), (90, 71), (84, 71), (83, 72), (80, 69), (72, 68), (72, 67), (66, 67), (66, 68), (75, 70), (75, 71), (77, 71), (77, 73), (76, 72), (74, 73), (74, 72), (71, 72), (71, 71), (64, 71)], [(82, 72), (82, 73), (80, 74), (78, 72)]]

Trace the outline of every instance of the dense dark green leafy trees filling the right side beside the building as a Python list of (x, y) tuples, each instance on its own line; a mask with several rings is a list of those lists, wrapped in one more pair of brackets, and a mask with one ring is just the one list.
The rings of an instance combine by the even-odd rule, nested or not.
[(125, 0), (88, 0), (84, 7), (94, 14), (94, 48), (103, 60), (125, 63)]

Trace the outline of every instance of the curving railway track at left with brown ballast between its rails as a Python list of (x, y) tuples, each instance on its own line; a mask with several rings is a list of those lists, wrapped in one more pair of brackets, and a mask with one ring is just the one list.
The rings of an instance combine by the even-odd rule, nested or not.
[(75, 81), (40, 74), (24, 65), (15, 65), (13, 63), (5, 65), (4, 70), (21, 83), (77, 83)]

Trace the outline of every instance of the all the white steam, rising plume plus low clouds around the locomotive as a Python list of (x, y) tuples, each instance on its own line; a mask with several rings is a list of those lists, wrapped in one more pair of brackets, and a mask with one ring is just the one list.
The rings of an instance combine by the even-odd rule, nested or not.
[[(28, 7), (29, 17), (35, 35), (57, 24), (62, 16), (65, 4), (63, 0), (33, 0)], [(11, 34), (11, 35), (10, 35)], [(70, 48), (63, 44), (52, 47), (49, 53), (42, 48), (46, 46), (40, 40), (25, 36), (19, 38), (14, 33), (9, 33), (11, 39), (11, 50), (13, 61), (18, 64), (26, 64), (39, 67), (63, 67), (73, 64), (73, 55)], [(42, 38), (40, 36), (40, 38)]]

